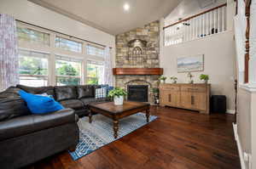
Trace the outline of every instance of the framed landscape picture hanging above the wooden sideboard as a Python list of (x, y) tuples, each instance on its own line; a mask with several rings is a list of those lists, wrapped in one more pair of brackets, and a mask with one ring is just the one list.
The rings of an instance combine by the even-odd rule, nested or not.
[(177, 72), (191, 72), (204, 70), (204, 54), (177, 58)]

